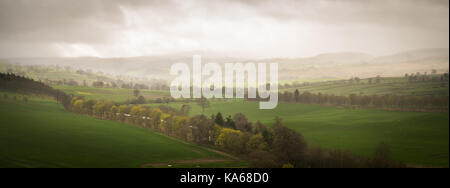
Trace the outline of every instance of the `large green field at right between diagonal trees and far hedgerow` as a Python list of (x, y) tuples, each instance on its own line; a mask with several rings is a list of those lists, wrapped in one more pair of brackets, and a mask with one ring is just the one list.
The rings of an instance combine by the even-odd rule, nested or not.
[[(172, 103), (179, 108), (182, 104)], [(201, 114), (194, 104), (191, 115)], [(151, 106), (158, 106), (156, 104)], [(393, 159), (411, 165), (449, 166), (449, 116), (446, 113), (349, 110), (281, 103), (275, 110), (259, 110), (256, 102), (211, 102), (205, 115), (243, 112), (251, 121), (271, 125), (275, 116), (301, 132), (311, 145), (350, 150), (370, 156), (380, 142), (391, 146)]]

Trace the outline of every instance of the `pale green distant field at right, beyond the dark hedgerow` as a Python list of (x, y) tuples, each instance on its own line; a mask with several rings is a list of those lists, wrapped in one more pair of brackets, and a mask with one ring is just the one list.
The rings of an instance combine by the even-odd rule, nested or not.
[(314, 83), (308, 86), (291, 87), (280, 89), (281, 92), (293, 92), (299, 89), (300, 92), (333, 94), (339, 96), (346, 96), (350, 94), (362, 95), (440, 95), (449, 96), (448, 83), (442, 85), (441, 82), (412, 82), (408, 83), (406, 78), (381, 78), (379, 84), (375, 84), (375, 79), (372, 84), (368, 83), (367, 79), (361, 80), (359, 84), (340, 83), (340, 82), (323, 82)]

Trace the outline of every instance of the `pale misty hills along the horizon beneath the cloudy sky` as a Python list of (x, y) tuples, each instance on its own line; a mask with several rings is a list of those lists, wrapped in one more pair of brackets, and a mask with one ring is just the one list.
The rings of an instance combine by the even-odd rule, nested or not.
[[(14, 58), (0, 62), (21, 65), (58, 65), (135, 77), (170, 79), (174, 63), (192, 64), (190, 53), (131, 58)], [(320, 54), (309, 58), (240, 59), (204, 55), (203, 63), (279, 63), (280, 80), (347, 79), (350, 77), (402, 76), (405, 73), (448, 72), (448, 49), (421, 49), (374, 57), (358, 52)]]

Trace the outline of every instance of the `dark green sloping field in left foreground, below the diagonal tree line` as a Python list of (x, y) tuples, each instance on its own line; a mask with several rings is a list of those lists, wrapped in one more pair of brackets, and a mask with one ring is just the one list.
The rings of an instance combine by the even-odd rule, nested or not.
[(0, 167), (141, 167), (180, 160), (228, 159), (147, 129), (72, 114), (51, 100), (32, 98), (24, 102), (19, 96), (15, 101), (11, 94), (9, 99), (0, 94)]

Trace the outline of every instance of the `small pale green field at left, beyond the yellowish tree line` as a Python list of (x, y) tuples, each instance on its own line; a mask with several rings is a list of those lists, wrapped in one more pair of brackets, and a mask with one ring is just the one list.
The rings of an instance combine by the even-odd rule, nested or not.
[[(95, 88), (83, 86), (53, 86), (53, 88), (62, 90), (68, 94), (82, 96), (86, 99), (109, 100), (116, 102), (125, 102), (127, 100), (135, 99), (133, 96), (133, 89)], [(146, 99), (170, 97), (169, 91), (140, 90), (140, 94)]]

